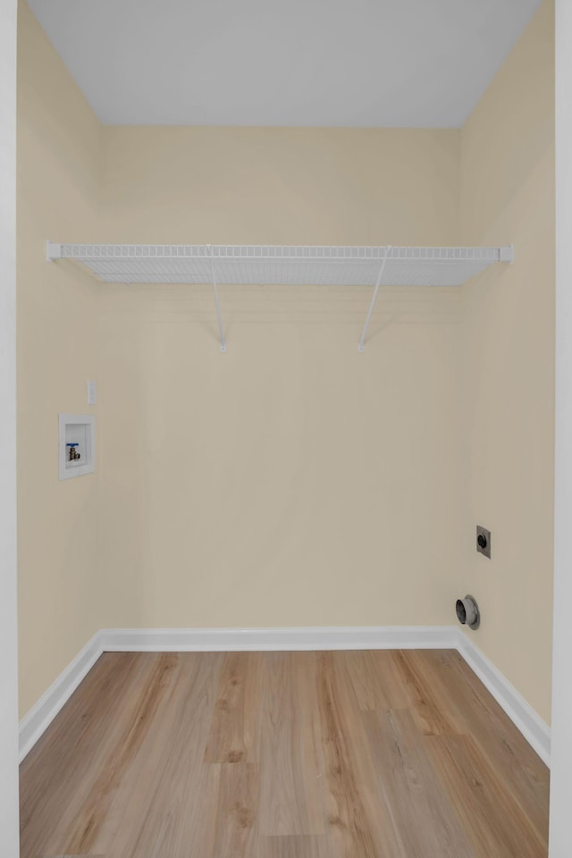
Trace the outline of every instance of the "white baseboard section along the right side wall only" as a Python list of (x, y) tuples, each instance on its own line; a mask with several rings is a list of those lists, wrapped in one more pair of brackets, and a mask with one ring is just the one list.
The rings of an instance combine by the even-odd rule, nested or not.
[(483, 685), (507, 713), (509, 719), (526, 738), (541, 760), (550, 768), (551, 764), (551, 728), (526, 702), (522, 694), (511, 686), (507, 677), (493, 665), (492, 661), (473, 644), (460, 628), (455, 630), (458, 635), (456, 646), (458, 652), (467, 661)]

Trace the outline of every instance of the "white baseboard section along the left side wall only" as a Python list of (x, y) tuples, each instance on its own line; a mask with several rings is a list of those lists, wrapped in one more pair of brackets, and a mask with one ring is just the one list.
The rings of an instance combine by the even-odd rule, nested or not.
[(57, 713), (62, 709), (71, 694), (87, 676), (103, 652), (101, 632), (97, 632), (76, 655), (75, 659), (55, 680), (38, 702), (21, 719), (19, 729), (20, 762), (24, 759), (39, 737), (50, 726)]

